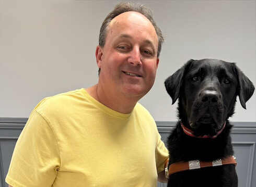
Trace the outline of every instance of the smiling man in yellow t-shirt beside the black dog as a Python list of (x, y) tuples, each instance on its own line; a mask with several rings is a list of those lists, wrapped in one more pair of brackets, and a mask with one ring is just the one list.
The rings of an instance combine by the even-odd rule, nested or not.
[(168, 151), (154, 119), (137, 103), (153, 86), (161, 32), (146, 7), (120, 3), (99, 40), (98, 84), (45, 98), (34, 108), (11, 159), (9, 185), (167, 182)]

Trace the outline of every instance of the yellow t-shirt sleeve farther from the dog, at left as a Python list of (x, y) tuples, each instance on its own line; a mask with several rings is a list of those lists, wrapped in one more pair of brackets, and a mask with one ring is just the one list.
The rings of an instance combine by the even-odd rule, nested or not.
[(16, 143), (6, 182), (14, 187), (51, 186), (60, 164), (60, 151), (52, 128), (34, 110)]

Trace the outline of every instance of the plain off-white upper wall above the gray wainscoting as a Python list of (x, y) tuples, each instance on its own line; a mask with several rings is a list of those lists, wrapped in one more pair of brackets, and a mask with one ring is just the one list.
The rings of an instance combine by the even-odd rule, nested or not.
[[(46, 96), (97, 83), (101, 23), (118, 1), (0, 0), (0, 117), (28, 117)], [(176, 121), (164, 81), (189, 59), (236, 62), (256, 85), (256, 1), (141, 1), (165, 35), (157, 78), (141, 99)], [(256, 93), (232, 121), (256, 121)]]

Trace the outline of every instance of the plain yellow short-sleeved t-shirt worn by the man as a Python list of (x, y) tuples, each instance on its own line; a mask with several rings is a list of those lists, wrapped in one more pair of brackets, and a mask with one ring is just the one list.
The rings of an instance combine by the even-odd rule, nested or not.
[(11, 159), (13, 186), (156, 186), (168, 151), (140, 104), (121, 114), (85, 89), (44, 98)]

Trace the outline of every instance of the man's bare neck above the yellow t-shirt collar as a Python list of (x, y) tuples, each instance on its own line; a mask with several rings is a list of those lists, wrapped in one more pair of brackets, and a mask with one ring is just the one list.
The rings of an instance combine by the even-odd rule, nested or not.
[(101, 104), (122, 114), (131, 113), (137, 103), (137, 99), (118, 96), (111, 91), (105, 92), (98, 84), (85, 90)]

